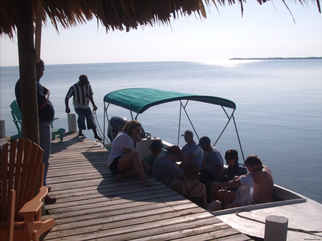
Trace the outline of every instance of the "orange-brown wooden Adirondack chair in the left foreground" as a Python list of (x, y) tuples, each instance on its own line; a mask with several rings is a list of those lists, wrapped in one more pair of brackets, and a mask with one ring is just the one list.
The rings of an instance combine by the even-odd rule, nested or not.
[[(41, 220), (42, 200), (48, 193), (43, 186), (43, 149), (20, 138), (2, 147), (1, 158), (1, 240), (39, 240), (39, 235), (54, 226), (54, 219)], [(9, 158), (8, 158), (9, 157)], [(40, 180), (38, 180), (40, 179)], [(37, 182), (38, 180), (38, 182)], [(39, 192), (35, 195), (36, 185)]]

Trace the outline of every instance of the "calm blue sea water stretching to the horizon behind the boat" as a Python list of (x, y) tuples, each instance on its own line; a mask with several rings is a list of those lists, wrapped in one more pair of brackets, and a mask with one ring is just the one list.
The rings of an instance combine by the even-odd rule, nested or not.
[[(57, 127), (68, 129), (64, 98), (81, 74), (89, 77), (102, 129), (103, 98), (122, 88), (157, 88), (232, 100), (245, 158), (260, 156), (276, 184), (322, 202), (322, 60), (46, 65), (41, 83), (50, 89)], [(7, 136), (16, 134), (9, 105), (15, 99), (18, 78), (18, 67), (0, 67), (0, 119), (5, 120)], [(138, 121), (152, 136), (176, 144), (179, 110), (179, 103), (156, 106), (139, 115)], [(221, 107), (189, 102), (187, 112), (198, 136), (207, 135), (214, 143), (227, 121)], [(131, 119), (119, 107), (109, 107), (108, 114)], [(183, 113), (180, 134), (185, 129), (191, 125)], [(84, 134), (94, 140), (91, 130)], [(184, 144), (180, 136), (179, 146)], [(232, 122), (216, 147), (222, 155), (227, 149), (240, 153)]]

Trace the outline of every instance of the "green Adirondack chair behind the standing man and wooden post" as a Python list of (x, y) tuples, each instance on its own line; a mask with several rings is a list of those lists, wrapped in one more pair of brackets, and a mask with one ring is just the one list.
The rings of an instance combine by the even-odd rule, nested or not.
[[(22, 132), (21, 132), (21, 122), (22, 122), (22, 117), (21, 117), (21, 111), (19, 109), (19, 106), (18, 106), (18, 103), (17, 103), (17, 100), (14, 100), (11, 104), (10, 104), (10, 107), (11, 107), (11, 115), (12, 115), (12, 118), (13, 118), (13, 121), (14, 121), (14, 124), (16, 125), (16, 128), (18, 130), (18, 134), (17, 135), (14, 135), (14, 136), (11, 136), (10, 137), (10, 140), (14, 140), (14, 139), (18, 139), (18, 138), (22, 138), (23, 135), (22, 135)], [(51, 121), (51, 125), (52, 125), (52, 122), (54, 120), (57, 120), (58, 118), (54, 118), (52, 119)], [(65, 129), (63, 128), (56, 128), (52, 125), (52, 140), (56, 139), (56, 135), (59, 135), (60, 136), (60, 140), (62, 141), (62, 134), (65, 133)]]

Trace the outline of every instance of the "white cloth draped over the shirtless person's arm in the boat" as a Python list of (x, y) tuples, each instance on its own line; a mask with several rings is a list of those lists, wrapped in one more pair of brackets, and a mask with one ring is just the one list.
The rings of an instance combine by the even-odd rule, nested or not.
[(253, 199), (254, 196), (254, 180), (251, 175), (240, 177), (241, 186), (238, 187), (236, 198), (232, 203), (243, 203)]

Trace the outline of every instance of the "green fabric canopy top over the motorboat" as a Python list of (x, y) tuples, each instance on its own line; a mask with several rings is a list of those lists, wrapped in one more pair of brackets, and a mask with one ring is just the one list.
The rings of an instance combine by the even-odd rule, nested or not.
[(142, 114), (152, 106), (180, 100), (193, 100), (236, 109), (230, 100), (215, 96), (185, 94), (148, 88), (129, 88), (110, 92), (104, 96), (104, 102), (111, 103), (130, 111)]

